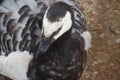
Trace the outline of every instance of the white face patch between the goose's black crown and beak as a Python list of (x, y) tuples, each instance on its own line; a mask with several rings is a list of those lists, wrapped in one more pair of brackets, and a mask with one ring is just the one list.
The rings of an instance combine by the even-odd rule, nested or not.
[(58, 34), (56, 34), (53, 38), (56, 40), (59, 38), (63, 33), (68, 31), (72, 27), (72, 20), (70, 12), (66, 12), (66, 15), (61, 18), (59, 21), (50, 22), (47, 17), (46, 13), (43, 19), (43, 30), (45, 37), (50, 37), (54, 32), (57, 32), (60, 28)]

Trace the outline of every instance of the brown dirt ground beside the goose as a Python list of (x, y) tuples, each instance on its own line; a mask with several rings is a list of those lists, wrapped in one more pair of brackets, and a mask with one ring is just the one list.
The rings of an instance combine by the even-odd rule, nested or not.
[(120, 0), (78, 1), (92, 35), (82, 80), (120, 80)]

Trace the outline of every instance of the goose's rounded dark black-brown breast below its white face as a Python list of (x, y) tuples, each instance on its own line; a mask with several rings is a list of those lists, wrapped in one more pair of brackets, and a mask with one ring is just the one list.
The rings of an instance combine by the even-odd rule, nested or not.
[(39, 55), (35, 61), (37, 62), (35, 80), (78, 80), (87, 57), (83, 43), (82, 36), (77, 32), (72, 35), (68, 32), (61, 36), (45, 55)]

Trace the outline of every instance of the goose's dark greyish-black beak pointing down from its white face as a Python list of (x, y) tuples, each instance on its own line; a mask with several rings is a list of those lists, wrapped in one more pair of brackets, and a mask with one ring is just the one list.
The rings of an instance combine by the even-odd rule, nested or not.
[(42, 55), (45, 52), (47, 52), (51, 43), (52, 43), (52, 40), (50, 38), (42, 36), (42, 39), (41, 39), (40, 43), (38, 44), (38, 49), (37, 49), (36, 54)]

